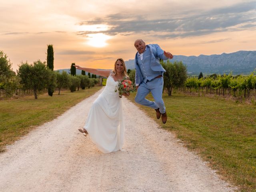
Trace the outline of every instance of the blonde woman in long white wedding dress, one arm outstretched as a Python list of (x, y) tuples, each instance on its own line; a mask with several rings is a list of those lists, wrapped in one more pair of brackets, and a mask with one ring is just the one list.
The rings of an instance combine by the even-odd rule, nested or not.
[[(122, 149), (124, 144), (124, 118), (122, 99), (115, 92), (118, 80), (128, 79), (126, 66), (122, 58), (118, 58), (114, 70), (98, 70), (75, 65), (77, 69), (107, 77), (106, 87), (90, 108), (86, 123), (78, 129), (85, 136), (89, 134), (92, 142), (103, 153)], [(129, 96), (129, 94), (124, 94)]]

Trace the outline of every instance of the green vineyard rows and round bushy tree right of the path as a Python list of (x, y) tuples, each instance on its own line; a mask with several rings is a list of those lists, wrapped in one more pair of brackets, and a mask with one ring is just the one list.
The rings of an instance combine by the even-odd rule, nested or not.
[[(202, 72), (198, 77), (189, 77), (187, 66), (181, 61), (173, 63), (167, 60), (160, 61), (164, 73), (164, 90), (168, 95), (172, 95), (173, 89), (179, 89), (183, 92), (198, 92), (216, 95), (233, 95), (248, 98), (253, 90), (256, 90), (256, 71), (248, 76), (230, 74), (212, 74), (203, 77)], [(135, 70), (128, 70), (130, 80), (135, 81)]]

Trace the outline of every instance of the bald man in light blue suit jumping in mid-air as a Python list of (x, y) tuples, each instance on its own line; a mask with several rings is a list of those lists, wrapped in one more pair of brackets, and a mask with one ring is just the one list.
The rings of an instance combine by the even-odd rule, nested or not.
[[(162, 50), (158, 44), (146, 45), (142, 39), (137, 39), (134, 46), (138, 50), (135, 55), (135, 84), (137, 89), (135, 102), (156, 110), (156, 118), (159, 119), (162, 115), (162, 122), (165, 124), (167, 114), (162, 99), (165, 70), (159, 59), (172, 59), (173, 56), (170, 52)], [(145, 99), (149, 92), (152, 93), (154, 102)]]

